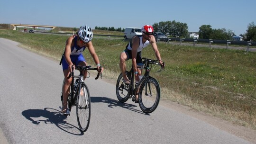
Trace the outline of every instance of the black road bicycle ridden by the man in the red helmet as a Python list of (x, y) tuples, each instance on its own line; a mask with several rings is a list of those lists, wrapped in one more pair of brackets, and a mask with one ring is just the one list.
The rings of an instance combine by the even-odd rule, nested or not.
[[(144, 113), (152, 113), (158, 106), (160, 100), (160, 85), (158, 81), (149, 75), (152, 68), (152, 64), (161, 65), (157, 60), (142, 58), (144, 66), (141, 69), (146, 69), (145, 74), (142, 76), (138, 83), (134, 82), (134, 71), (133, 67), (126, 75), (130, 80), (130, 84), (123, 81), (123, 75), (120, 73), (117, 85), (116, 94), (120, 102), (126, 102), (128, 99), (132, 98), (132, 101), (138, 102), (139, 107)], [(165, 63), (161, 66), (161, 69), (165, 69)], [(137, 93), (138, 91), (138, 93)], [(138, 95), (138, 101), (136, 101), (136, 96)]]

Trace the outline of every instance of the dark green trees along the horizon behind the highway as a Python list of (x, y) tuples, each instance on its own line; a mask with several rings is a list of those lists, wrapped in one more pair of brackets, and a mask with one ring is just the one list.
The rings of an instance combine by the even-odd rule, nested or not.
[[(160, 21), (152, 25), (154, 31), (162, 32), (169, 37), (191, 38), (188, 32), (188, 26), (186, 23), (173, 21)], [(124, 32), (124, 28), (121, 27), (95, 27), (95, 29), (110, 30)], [(235, 33), (230, 29), (225, 28), (211, 28), (210, 25), (202, 25), (199, 27), (199, 31), (196, 32), (200, 39), (218, 39), (218, 40), (232, 40)], [(256, 41), (256, 25), (251, 22), (247, 25), (247, 31), (244, 34), (240, 34), (244, 41)]]

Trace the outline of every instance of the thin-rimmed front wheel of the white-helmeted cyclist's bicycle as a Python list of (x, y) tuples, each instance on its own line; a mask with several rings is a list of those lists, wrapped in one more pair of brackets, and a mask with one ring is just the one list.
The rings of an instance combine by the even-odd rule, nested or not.
[(91, 97), (85, 83), (81, 84), (81, 89), (77, 90), (76, 117), (77, 123), (82, 132), (85, 132), (91, 119)]

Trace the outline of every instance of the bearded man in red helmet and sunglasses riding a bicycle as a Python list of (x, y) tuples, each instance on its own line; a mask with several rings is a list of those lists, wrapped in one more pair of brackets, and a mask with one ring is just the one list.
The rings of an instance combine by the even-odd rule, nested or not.
[[(125, 71), (126, 71), (126, 61), (128, 59), (132, 59), (132, 65), (133, 70), (135, 74), (136, 81), (139, 81), (139, 76), (141, 75), (141, 70), (143, 68), (142, 63), (142, 57), (141, 57), (141, 51), (143, 48), (145, 48), (147, 45), (152, 45), (152, 48), (155, 52), (155, 56), (159, 63), (163, 66), (163, 61), (161, 59), (161, 55), (158, 51), (157, 45), (155, 43), (155, 37), (153, 36), (154, 28), (149, 25), (145, 25), (141, 28), (142, 35), (133, 36), (126, 46), (126, 49), (120, 54), (120, 63), (119, 67), (121, 69), (121, 72), (123, 74), (123, 81), (127, 84), (130, 83), (128, 80)], [(142, 67), (141, 69), (138, 69), (137, 67)], [(136, 101), (137, 101), (137, 95), (136, 95)]]

